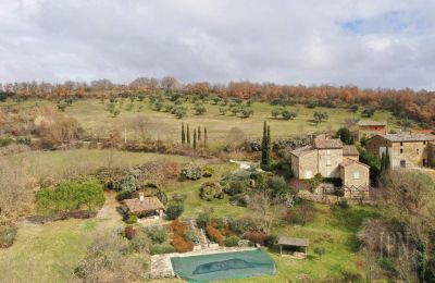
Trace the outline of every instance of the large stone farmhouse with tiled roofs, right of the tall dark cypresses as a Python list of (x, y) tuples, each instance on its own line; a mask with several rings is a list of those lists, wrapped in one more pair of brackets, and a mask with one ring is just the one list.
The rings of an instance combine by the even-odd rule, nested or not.
[(341, 179), (344, 187), (369, 187), (369, 165), (359, 162), (355, 146), (343, 145), (340, 139), (319, 136), (312, 146), (290, 151), (295, 177), (308, 180), (318, 173), (323, 177)]

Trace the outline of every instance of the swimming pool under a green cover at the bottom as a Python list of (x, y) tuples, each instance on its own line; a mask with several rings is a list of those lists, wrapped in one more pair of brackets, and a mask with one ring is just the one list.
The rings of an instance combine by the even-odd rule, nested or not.
[(263, 250), (172, 257), (175, 274), (188, 281), (215, 281), (276, 273), (275, 261)]

